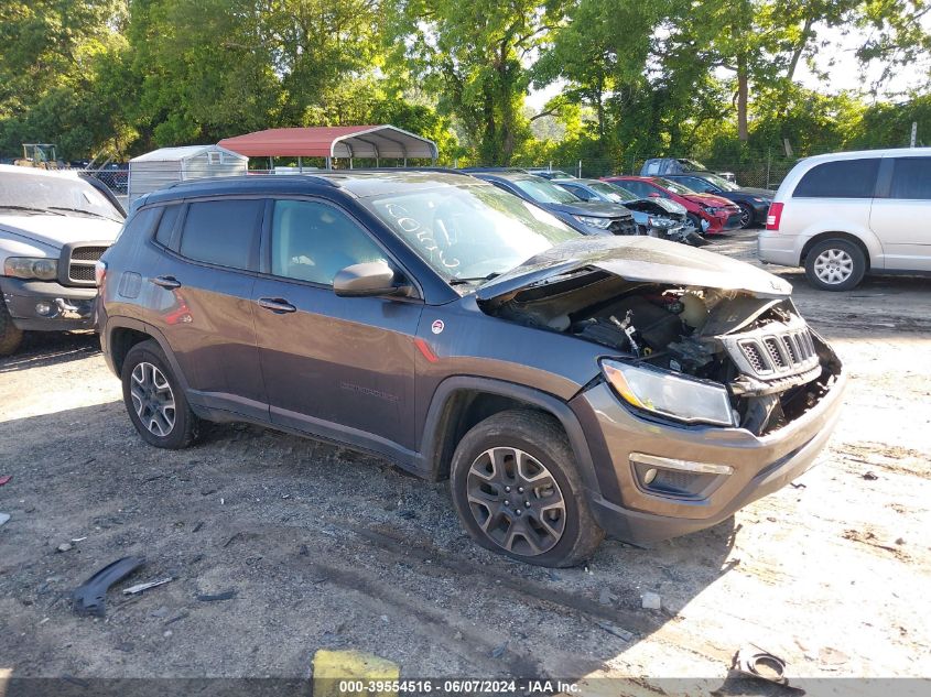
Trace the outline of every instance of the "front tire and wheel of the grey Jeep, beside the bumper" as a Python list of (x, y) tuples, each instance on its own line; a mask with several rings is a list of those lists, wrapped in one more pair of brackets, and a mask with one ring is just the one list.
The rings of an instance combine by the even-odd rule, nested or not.
[[(529, 478), (537, 484), (521, 487)], [(572, 447), (549, 414), (511, 410), (478, 423), (456, 447), (450, 487), (473, 540), (527, 564), (574, 566), (605, 536), (588, 508)]]

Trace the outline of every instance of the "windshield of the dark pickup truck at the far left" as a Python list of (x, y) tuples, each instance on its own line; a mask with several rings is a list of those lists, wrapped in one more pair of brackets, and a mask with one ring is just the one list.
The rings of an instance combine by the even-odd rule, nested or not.
[(4, 208), (37, 214), (87, 215), (117, 222), (123, 220), (100, 192), (77, 177), (0, 173), (0, 213)]

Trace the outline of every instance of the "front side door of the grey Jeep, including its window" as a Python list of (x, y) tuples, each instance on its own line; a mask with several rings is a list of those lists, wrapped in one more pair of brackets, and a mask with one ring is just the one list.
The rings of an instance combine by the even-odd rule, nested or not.
[(413, 339), (421, 301), (339, 297), (336, 273), (383, 259), (347, 211), (323, 199), (278, 199), (252, 292), (271, 420), (393, 455), (414, 448)]

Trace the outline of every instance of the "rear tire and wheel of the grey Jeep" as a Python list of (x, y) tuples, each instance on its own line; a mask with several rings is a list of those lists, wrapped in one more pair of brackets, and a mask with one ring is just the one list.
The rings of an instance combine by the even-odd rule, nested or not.
[[(184, 390), (156, 341), (150, 339), (133, 346), (123, 360), (121, 377), (126, 411), (145, 443), (177, 450), (197, 439), (201, 422), (191, 411)], [(167, 397), (173, 407), (167, 406)]]

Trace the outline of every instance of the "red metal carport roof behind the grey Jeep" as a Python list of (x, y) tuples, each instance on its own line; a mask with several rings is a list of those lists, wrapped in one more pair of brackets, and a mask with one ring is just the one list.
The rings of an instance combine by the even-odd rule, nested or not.
[(430, 157), (436, 143), (393, 126), (273, 128), (219, 143), (248, 157)]

